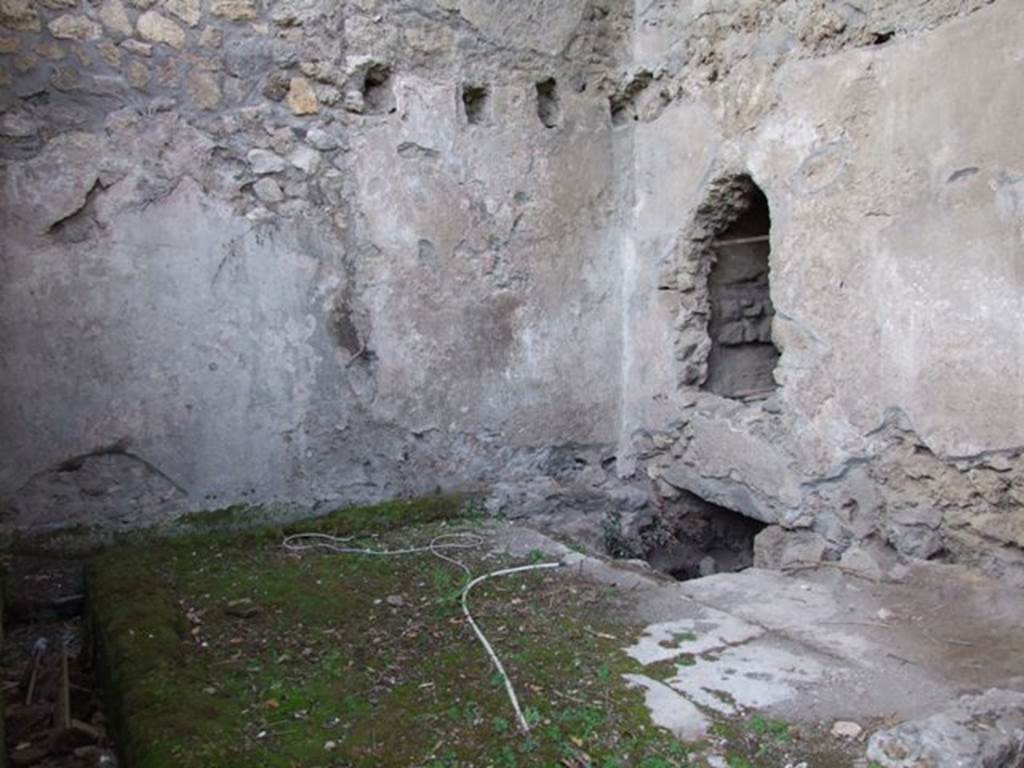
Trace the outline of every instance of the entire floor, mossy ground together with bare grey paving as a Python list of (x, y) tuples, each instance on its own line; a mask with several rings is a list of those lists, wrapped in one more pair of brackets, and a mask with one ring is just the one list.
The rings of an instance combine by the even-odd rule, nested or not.
[[(224, 517), (91, 562), (95, 670), (71, 615), (81, 600), (52, 597), (80, 593), (80, 563), (23, 558), (2, 669), (15, 765), (114, 765), (109, 729), (130, 768), (878, 768), (865, 757), (873, 732), (1024, 682), (1024, 605), (955, 567), (821, 563), (677, 582), (445, 499), (284, 529), (225, 531), (236, 521)], [(467, 548), (444, 559), (282, 546), (300, 530), (372, 551)], [(463, 615), (469, 577), (452, 559), (473, 575), (559, 564), (469, 598), (528, 733)], [(73, 717), (92, 729), (71, 749), (55, 735), (67, 730), (59, 684), (43, 686), (48, 709), (26, 726), (39, 637), (51, 681), (68, 640)]]

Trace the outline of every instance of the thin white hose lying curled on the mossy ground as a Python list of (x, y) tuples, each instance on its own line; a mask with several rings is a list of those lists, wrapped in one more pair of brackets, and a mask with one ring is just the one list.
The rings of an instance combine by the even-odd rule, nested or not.
[(522, 731), (523, 735), (529, 734), (529, 723), (526, 722), (526, 717), (522, 713), (522, 708), (519, 707), (519, 698), (515, 694), (515, 688), (512, 685), (511, 679), (509, 679), (508, 673), (505, 672), (505, 666), (502, 664), (501, 658), (498, 657), (498, 653), (495, 652), (494, 646), (487, 640), (483, 631), (479, 628), (476, 622), (473, 620), (473, 614), (469, 612), (469, 592), (473, 587), (485, 582), (488, 579), (494, 579), (503, 575), (512, 575), (513, 573), (523, 573), (528, 570), (543, 570), (547, 568), (557, 568), (561, 565), (560, 562), (544, 562), (536, 563), (532, 565), (519, 565), (514, 568), (502, 568), (501, 570), (494, 570), (489, 573), (484, 573), (483, 575), (473, 578), (473, 572), (469, 569), (466, 563), (456, 560), (454, 557), (449, 557), (442, 553), (442, 550), (458, 550), (458, 549), (475, 549), (476, 547), (483, 546), (483, 537), (477, 536), (476, 534), (468, 534), (464, 531), (455, 534), (441, 534), (440, 536), (434, 537), (430, 540), (430, 544), (426, 547), (406, 547), (402, 549), (368, 549), (364, 547), (348, 547), (345, 546), (348, 542), (352, 540), (353, 537), (348, 537), (341, 539), (335, 536), (330, 536), (329, 534), (294, 534), (292, 536), (286, 537), (282, 546), (289, 552), (309, 552), (312, 550), (328, 550), (329, 552), (335, 552), (340, 554), (348, 555), (369, 555), (373, 557), (385, 557), (390, 555), (412, 555), (420, 552), (430, 552), (441, 560), (457, 565), (466, 573), (466, 578), (470, 581), (462, 589), (462, 594), (460, 596), (460, 603), (462, 604), (462, 612), (466, 616), (466, 621), (469, 622), (469, 626), (472, 627), (473, 633), (476, 635), (476, 639), (480, 641), (480, 645), (487, 652), (487, 656), (490, 658), (490, 663), (495, 666), (498, 671), (499, 676), (502, 678), (502, 682), (505, 684), (505, 692), (508, 693), (509, 701), (512, 702), (512, 709), (515, 711), (516, 722), (519, 724), (519, 730)]

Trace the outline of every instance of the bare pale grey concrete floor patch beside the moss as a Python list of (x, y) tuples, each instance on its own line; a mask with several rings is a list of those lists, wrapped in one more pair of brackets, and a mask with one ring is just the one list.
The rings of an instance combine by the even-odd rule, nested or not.
[[(676, 583), (571, 552), (517, 525), (498, 526), (496, 543), (561, 558), (629, 596), (631, 610), (649, 624), (624, 649), (658, 670), (656, 679), (632, 680), (645, 688), (652, 717), (666, 727), (696, 730), (698, 714), (762, 713), (826, 733), (836, 721), (870, 730), (903, 721), (879, 730), (872, 755), (885, 744), (931, 755), (942, 743), (937, 734), (948, 730), (943, 724), (954, 722), (973, 734), (958, 741), (965, 754), (1010, 755), (1007, 744), (1020, 735), (1024, 605), (1012, 587), (962, 567), (897, 566), (871, 581), (823, 563), (795, 574), (750, 569)], [(668, 676), (667, 664), (674, 667)], [(1008, 684), (1016, 690), (971, 694)], [(961, 703), (946, 712), (958, 696)], [(982, 720), (984, 728), (970, 725)], [(846, 728), (835, 736), (841, 742)], [(922, 733), (932, 734), (925, 745)]]

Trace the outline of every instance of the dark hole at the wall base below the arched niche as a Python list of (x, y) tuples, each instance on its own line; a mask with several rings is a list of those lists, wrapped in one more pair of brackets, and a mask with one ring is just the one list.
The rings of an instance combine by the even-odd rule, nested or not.
[(644, 531), (645, 559), (679, 581), (743, 570), (754, 564), (754, 538), (764, 528), (684, 490)]

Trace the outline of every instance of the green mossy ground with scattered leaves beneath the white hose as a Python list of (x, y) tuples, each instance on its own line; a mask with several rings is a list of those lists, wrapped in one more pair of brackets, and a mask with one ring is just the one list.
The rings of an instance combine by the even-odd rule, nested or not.
[[(391, 505), (298, 527), (392, 549), (486, 531), (445, 519), (459, 508)], [(524, 738), (459, 609), (461, 570), (429, 553), (289, 554), (282, 532), (123, 547), (93, 563), (91, 621), (129, 768), (689, 765), (690, 748), (623, 682), (640, 671), (622, 651), (640, 630), (628, 595), (570, 568), (474, 590), (532, 725)], [(457, 556), (477, 574), (522, 564), (486, 546)], [(228, 615), (241, 598), (258, 612)], [(758, 764), (744, 755), (737, 766)]]

